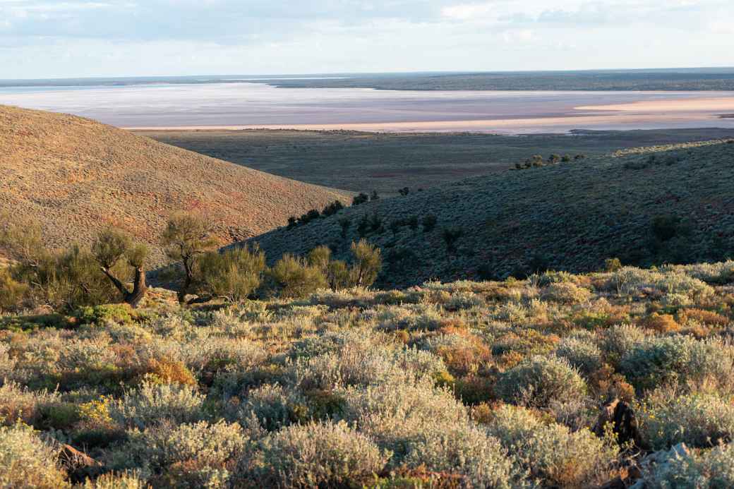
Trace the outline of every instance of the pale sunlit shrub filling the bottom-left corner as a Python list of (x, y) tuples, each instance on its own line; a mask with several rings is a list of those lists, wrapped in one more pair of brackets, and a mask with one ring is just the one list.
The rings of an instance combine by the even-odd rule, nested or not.
[(57, 461), (58, 449), (23, 424), (0, 427), (0, 487), (68, 488)]

